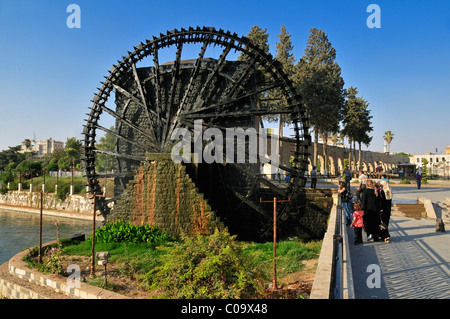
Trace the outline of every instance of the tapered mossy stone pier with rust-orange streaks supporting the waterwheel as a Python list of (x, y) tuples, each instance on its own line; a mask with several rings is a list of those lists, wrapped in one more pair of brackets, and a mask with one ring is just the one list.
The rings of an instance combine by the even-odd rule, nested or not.
[(168, 154), (152, 154), (141, 165), (107, 221), (156, 225), (174, 236), (212, 233), (222, 226), (183, 165)]

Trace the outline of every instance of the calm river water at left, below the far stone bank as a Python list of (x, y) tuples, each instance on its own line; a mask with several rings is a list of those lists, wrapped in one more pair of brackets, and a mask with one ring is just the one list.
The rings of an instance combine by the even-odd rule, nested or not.
[[(42, 243), (57, 239), (55, 222), (61, 237), (92, 233), (92, 221), (57, 216), (43, 216)], [(96, 223), (101, 226), (101, 222)], [(15, 254), (39, 245), (39, 214), (4, 210), (0, 208), (0, 265)]]

